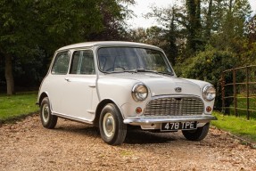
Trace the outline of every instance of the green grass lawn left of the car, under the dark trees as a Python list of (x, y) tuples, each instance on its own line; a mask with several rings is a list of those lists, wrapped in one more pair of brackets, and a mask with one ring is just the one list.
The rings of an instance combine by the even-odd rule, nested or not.
[(37, 92), (15, 95), (0, 94), (0, 120), (19, 118), (39, 110), (36, 105)]

